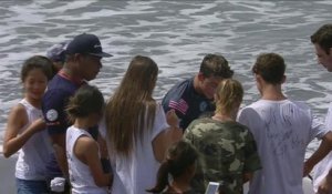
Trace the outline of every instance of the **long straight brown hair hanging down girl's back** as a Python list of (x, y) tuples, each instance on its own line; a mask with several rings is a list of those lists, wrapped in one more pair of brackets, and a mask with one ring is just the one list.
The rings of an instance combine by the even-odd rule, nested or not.
[(136, 55), (115, 93), (106, 104), (107, 136), (115, 153), (128, 156), (133, 145), (152, 129), (156, 113), (153, 90), (157, 64), (148, 57)]

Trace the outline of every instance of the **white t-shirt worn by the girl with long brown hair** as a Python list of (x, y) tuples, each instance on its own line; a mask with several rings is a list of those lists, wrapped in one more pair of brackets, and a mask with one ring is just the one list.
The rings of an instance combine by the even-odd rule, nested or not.
[(144, 141), (138, 141), (129, 157), (113, 154), (106, 135), (105, 123), (100, 124), (101, 135), (105, 137), (108, 149), (110, 161), (113, 170), (112, 193), (115, 194), (145, 194), (156, 183), (159, 163), (153, 152), (153, 140), (168, 127), (164, 110), (156, 108), (153, 129), (144, 134)]

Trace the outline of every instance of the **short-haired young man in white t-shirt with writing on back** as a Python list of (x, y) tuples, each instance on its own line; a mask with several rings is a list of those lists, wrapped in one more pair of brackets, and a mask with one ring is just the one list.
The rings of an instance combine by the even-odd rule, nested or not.
[(252, 72), (261, 99), (243, 108), (238, 121), (252, 132), (262, 170), (255, 173), (249, 194), (301, 194), (305, 149), (314, 137), (319, 150), (307, 161), (304, 174), (332, 147), (332, 133), (315, 120), (309, 106), (282, 92), (286, 64), (281, 55), (262, 53)]

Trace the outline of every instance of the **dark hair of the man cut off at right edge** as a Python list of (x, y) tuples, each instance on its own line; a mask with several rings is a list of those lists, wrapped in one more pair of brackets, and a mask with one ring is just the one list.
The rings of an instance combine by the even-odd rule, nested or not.
[(319, 44), (326, 54), (330, 54), (330, 49), (332, 48), (332, 24), (322, 25), (310, 39), (312, 43)]

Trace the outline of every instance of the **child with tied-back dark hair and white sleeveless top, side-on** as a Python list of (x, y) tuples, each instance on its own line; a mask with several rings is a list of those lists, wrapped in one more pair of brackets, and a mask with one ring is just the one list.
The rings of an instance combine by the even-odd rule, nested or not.
[(102, 119), (104, 105), (102, 92), (86, 84), (70, 99), (65, 110), (73, 123), (65, 134), (72, 194), (108, 193), (112, 175), (103, 172), (98, 144), (87, 132)]

